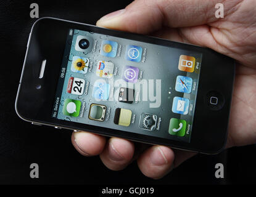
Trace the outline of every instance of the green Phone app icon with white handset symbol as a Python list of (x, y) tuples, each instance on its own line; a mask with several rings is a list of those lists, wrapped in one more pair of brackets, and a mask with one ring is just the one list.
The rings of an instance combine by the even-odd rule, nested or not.
[(184, 119), (171, 118), (168, 132), (171, 135), (183, 137), (186, 133), (187, 122)]

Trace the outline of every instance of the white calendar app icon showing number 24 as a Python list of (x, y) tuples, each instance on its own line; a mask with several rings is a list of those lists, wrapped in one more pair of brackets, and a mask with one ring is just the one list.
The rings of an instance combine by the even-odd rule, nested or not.
[(80, 78), (69, 78), (67, 92), (69, 94), (82, 95), (85, 87), (85, 80)]

